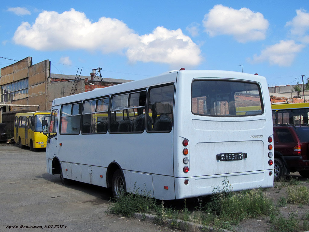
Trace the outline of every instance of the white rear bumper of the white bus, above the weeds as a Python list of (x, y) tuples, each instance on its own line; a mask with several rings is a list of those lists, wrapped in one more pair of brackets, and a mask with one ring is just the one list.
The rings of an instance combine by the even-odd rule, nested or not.
[[(189, 181), (187, 185), (186, 179)], [(222, 191), (223, 187), (227, 191), (273, 187), (273, 170), (175, 178), (176, 199), (211, 195)]]

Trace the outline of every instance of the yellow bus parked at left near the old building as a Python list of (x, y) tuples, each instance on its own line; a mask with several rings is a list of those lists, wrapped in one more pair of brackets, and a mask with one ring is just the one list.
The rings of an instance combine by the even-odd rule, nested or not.
[(20, 148), (30, 147), (31, 151), (46, 148), (47, 137), (43, 135), (42, 120), (49, 121), (50, 112), (26, 112), (15, 114), (14, 140)]

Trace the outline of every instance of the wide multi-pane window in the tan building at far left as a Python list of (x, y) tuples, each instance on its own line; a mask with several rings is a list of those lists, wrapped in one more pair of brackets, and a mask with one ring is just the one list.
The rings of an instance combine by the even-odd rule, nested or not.
[(1, 102), (28, 97), (28, 79), (1, 86)]

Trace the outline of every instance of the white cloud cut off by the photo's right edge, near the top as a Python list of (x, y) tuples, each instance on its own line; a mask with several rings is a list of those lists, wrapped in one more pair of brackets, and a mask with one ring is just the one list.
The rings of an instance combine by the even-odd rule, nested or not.
[(286, 23), (286, 26), (291, 26), (291, 34), (298, 36), (303, 42), (309, 43), (309, 36), (306, 32), (309, 30), (309, 13), (303, 9), (296, 10), (296, 16)]

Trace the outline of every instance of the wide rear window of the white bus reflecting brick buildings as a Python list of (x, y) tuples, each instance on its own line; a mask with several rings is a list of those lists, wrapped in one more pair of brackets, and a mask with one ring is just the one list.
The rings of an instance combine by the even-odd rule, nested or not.
[(252, 116), (263, 114), (260, 87), (254, 83), (195, 80), (191, 110), (204, 116)]

